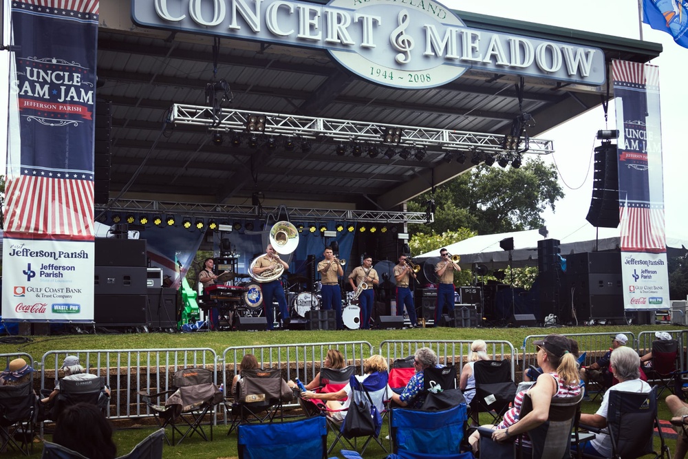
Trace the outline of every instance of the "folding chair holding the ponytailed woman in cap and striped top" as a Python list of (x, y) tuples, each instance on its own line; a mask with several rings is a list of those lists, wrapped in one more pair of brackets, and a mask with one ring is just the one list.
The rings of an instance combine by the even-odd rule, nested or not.
[[(497, 443), (492, 440), (493, 429), (478, 427), (480, 432), (480, 455), (487, 458), (570, 458), (572, 441), (579, 443), (578, 418), (580, 417), (583, 392), (573, 397), (552, 397), (548, 420), (528, 431), (524, 436), (515, 436), (513, 441)], [(524, 396), (520, 418), (533, 411), (530, 395)], [(572, 440), (571, 434), (574, 434)], [(527, 443), (527, 446), (526, 446)]]

